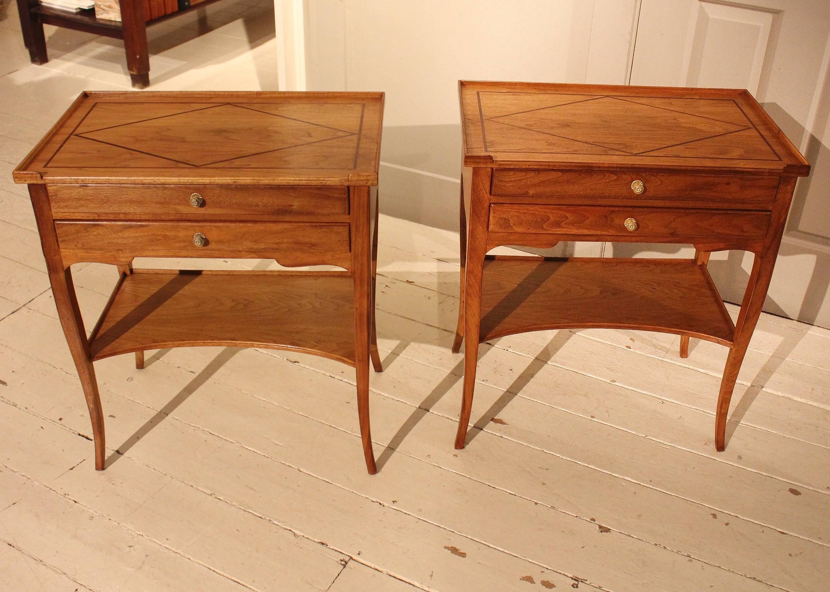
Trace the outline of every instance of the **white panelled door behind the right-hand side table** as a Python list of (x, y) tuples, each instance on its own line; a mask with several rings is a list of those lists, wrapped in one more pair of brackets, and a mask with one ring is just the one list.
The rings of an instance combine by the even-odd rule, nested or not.
[[(642, 0), (635, 35), (630, 84), (748, 89), (813, 164), (798, 182), (764, 310), (830, 327), (830, 1)], [(656, 253), (613, 245), (613, 254)], [(727, 300), (740, 303), (751, 261), (712, 255)]]

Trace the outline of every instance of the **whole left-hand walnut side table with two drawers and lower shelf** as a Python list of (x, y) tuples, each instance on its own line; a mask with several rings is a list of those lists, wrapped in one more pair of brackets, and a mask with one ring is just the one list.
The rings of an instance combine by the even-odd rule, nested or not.
[[(92, 362), (271, 347), (356, 368), (369, 431), (383, 93), (81, 94), (14, 172), (28, 183), (61, 325), (105, 467)], [(262, 258), (336, 271), (133, 269), (134, 257)], [(120, 279), (86, 337), (71, 264)]]

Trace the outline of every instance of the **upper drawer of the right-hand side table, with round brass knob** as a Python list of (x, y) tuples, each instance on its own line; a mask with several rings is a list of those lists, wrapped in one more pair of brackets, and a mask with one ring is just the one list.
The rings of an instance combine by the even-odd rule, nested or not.
[[(639, 183), (637, 183), (639, 182)], [(725, 201), (772, 204), (779, 177), (627, 171), (535, 171), (497, 168), (494, 196)], [(633, 184), (633, 187), (632, 187)], [(642, 188), (642, 192), (637, 192)]]

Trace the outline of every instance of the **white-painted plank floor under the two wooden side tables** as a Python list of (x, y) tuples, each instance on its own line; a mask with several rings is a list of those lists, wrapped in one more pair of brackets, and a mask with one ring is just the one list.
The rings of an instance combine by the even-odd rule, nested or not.
[[(174, 66), (159, 87), (269, 88), (269, 43), (229, 18), (169, 50), (190, 66), (186, 51), (227, 55)], [(658, 333), (505, 337), (482, 346), (475, 429), (457, 451), (457, 235), (388, 217), (378, 475), (364, 468), (354, 371), (233, 348), (148, 352), (142, 371), (132, 356), (96, 362), (111, 464), (95, 472), (11, 170), (80, 90), (127, 83), (109, 41), (52, 35), (64, 53), (51, 66), (12, 56), (0, 76), (0, 590), (828, 590), (830, 332), (764, 315), (721, 454), (725, 348), (693, 341), (681, 360), (678, 338)], [(15, 44), (0, 22), (2, 50)], [(116, 272), (74, 270), (91, 326)]]

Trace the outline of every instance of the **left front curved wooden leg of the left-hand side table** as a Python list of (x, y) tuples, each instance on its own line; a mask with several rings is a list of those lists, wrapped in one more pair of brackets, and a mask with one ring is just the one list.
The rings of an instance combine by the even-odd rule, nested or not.
[(78, 308), (75, 286), (72, 284), (72, 272), (68, 266), (63, 264), (61, 258), (55, 225), (51, 220), (46, 187), (29, 185), (29, 195), (32, 197), (37, 230), (41, 235), (41, 246), (46, 259), (46, 269), (49, 272), (52, 296), (55, 298), (58, 317), (61, 319), (61, 327), (66, 335), (72, 360), (75, 362), (78, 377), (81, 379), (86, 406), (90, 410), (92, 436), (95, 440), (95, 469), (102, 471), (106, 455), (104, 412), (101, 410), (98, 381), (95, 379), (95, 369), (90, 359), (90, 347), (89, 342), (86, 341), (84, 321), (81, 318), (81, 310)]

